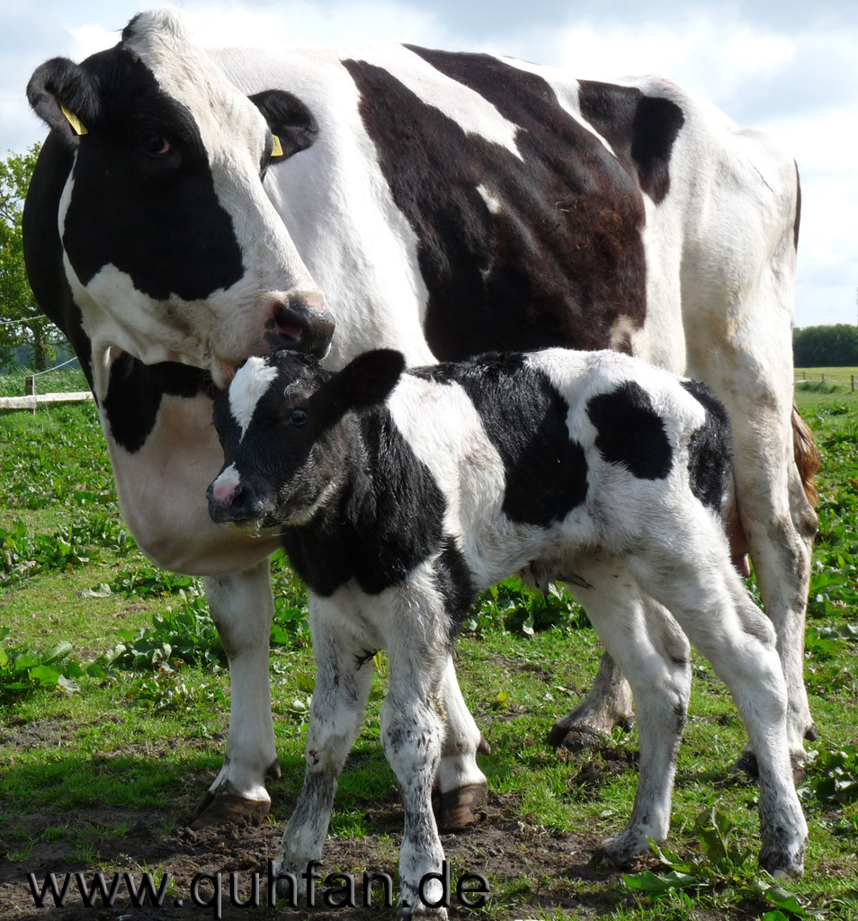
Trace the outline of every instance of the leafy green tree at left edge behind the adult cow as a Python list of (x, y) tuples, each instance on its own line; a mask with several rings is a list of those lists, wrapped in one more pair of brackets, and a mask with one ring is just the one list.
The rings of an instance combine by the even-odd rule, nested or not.
[(36, 304), (24, 270), (21, 214), (40, 145), (26, 154), (10, 153), (0, 160), (0, 367), (17, 364), (24, 345), (29, 361), (43, 371), (53, 359), (53, 345), (62, 333)]

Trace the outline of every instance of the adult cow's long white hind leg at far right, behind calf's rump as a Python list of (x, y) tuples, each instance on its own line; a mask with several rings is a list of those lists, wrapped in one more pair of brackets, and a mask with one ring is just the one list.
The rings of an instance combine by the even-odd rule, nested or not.
[[(730, 416), (738, 516), (777, 635), (790, 750), (800, 760), (804, 740), (816, 735), (804, 636), (817, 517), (796, 463), (804, 466), (800, 449), (812, 448), (812, 438), (795, 437), (793, 428), (797, 177), (794, 162), (767, 151), (759, 137), (743, 133), (732, 143), (741, 148), (730, 164), (736, 174), (713, 185), (682, 263), (688, 373), (713, 389)], [(713, 258), (715, 240), (721, 249)]]

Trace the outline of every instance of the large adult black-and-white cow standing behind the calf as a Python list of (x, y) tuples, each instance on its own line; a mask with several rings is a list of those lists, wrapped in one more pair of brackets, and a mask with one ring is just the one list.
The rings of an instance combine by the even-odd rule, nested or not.
[[(163, 10), (41, 65), (29, 99), (51, 127), (24, 212), (31, 285), (87, 369), (122, 514), (157, 563), (205, 577), (229, 657), (226, 760), (196, 822), (263, 814), (278, 771), (276, 542), (215, 528), (201, 498), (213, 391), (266, 332), (330, 344), (328, 367), (382, 345), (412, 365), (574, 345), (706, 381), (801, 753), (816, 518), (791, 427), (798, 182), (767, 138), (661, 79), (404, 46), (204, 52)], [(446, 703), (456, 824), (485, 780), (451, 662)], [(558, 735), (630, 715), (606, 659)]]

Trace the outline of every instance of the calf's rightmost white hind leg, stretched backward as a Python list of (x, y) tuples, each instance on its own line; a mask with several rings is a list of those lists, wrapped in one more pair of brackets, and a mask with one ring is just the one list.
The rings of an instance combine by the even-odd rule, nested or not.
[[(670, 543), (658, 547), (654, 542), (630, 554), (628, 565), (643, 589), (673, 613), (733, 694), (759, 764), (760, 866), (801, 876), (807, 825), (794, 786), (788, 698), (776, 637), (771, 622), (748, 598), (719, 539), (714, 523), (712, 533), (701, 530), (696, 539), (674, 532)], [(671, 547), (683, 548), (682, 555), (677, 557)]]

